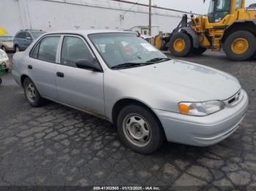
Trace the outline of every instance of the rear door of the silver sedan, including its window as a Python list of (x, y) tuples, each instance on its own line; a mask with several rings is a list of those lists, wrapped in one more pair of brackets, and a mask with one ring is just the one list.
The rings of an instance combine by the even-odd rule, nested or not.
[(31, 52), (27, 61), (29, 77), (37, 86), (40, 95), (58, 100), (56, 90), (56, 55), (61, 36), (51, 35), (42, 38)]

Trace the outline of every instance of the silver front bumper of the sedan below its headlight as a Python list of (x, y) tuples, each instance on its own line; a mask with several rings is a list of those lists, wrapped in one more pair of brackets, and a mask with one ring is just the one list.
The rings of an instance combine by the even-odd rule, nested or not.
[(195, 117), (154, 109), (165, 130), (167, 141), (194, 146), (210, 146), (226, 139), (244, 119), (249, 104), (248, 95), (241, 90), (235, 106), (206, 117)]

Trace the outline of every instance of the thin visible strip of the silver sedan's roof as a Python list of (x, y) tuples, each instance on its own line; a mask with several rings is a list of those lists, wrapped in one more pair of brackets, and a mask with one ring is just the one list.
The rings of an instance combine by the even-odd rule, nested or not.
[(51, 31), (47, 34), (80, 34), (87, 36), (89, 34), (105, 34), (105, 33), (129, 33), (127, 31), (112, 31), (112, 30), (72, 30), (72, 31)]

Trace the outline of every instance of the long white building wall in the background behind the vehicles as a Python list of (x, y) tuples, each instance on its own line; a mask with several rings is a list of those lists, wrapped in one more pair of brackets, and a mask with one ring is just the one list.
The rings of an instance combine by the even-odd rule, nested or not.
[[(0, 0), (0, 26), (20, 29), (130, 29), (148, 26), (148, 6), (123, 0)], [(170, 32), (185, 12), (152, 8), (152, 35)], [(147, 31), (143, 31), (143, 34)]]

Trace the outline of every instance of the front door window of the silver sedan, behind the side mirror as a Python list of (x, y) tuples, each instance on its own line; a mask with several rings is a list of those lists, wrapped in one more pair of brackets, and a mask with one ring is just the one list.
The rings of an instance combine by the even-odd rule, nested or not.
[(89, 48), (82, 39), (75, 36), (65, 36), (61, 49), (61, 64), (76, 67), (80, 59), (93, 61)]

